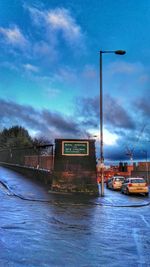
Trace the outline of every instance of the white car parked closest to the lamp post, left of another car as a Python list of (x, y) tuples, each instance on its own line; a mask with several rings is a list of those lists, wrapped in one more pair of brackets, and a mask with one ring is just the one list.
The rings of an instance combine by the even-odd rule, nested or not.
[(107, 180), (107, 188), (113, 190), (120, 190), (122, 187), (122, 183), (125, 181), (125, 177), (123, 176), (112, 176)]

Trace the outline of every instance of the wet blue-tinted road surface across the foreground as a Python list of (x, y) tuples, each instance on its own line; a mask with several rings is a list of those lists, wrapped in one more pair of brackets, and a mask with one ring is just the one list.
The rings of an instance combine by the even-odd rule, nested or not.
[(0, 267), (148, 267), (150, 199), (77, 197), (0, 167)]

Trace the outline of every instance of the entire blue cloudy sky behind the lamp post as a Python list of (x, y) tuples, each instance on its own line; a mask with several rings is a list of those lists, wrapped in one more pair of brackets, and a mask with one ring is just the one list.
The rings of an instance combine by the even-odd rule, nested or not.
[[(0, 0), (0, 131), (95, 139), (101, 51), (106, 162), (150, 155), (150, 1)], [(132, 153), (130, 153), (132, 152)]]

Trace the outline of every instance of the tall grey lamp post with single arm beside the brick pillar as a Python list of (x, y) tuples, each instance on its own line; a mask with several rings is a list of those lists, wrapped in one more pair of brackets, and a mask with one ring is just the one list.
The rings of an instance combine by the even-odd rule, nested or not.
[(124, 55), (124, 50), (100, 51), (100, 169), (101, 169), (101, 196), (104, 196), (104, 151), (103, 151), (103, 87), (102, 87), (102, 54), (113, 53)]

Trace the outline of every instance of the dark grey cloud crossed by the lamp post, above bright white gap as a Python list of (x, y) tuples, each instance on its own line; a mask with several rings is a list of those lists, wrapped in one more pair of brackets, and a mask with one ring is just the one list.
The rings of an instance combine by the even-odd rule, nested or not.
[[(117, 100), (110, 96), (104, 97), (104, 124), (119, 129), (134, 129), (135, 123), (128, 111)], [(76, 111), (89, 125), (99, 125), (99, 96), (81, 98), (76, 100)]]

